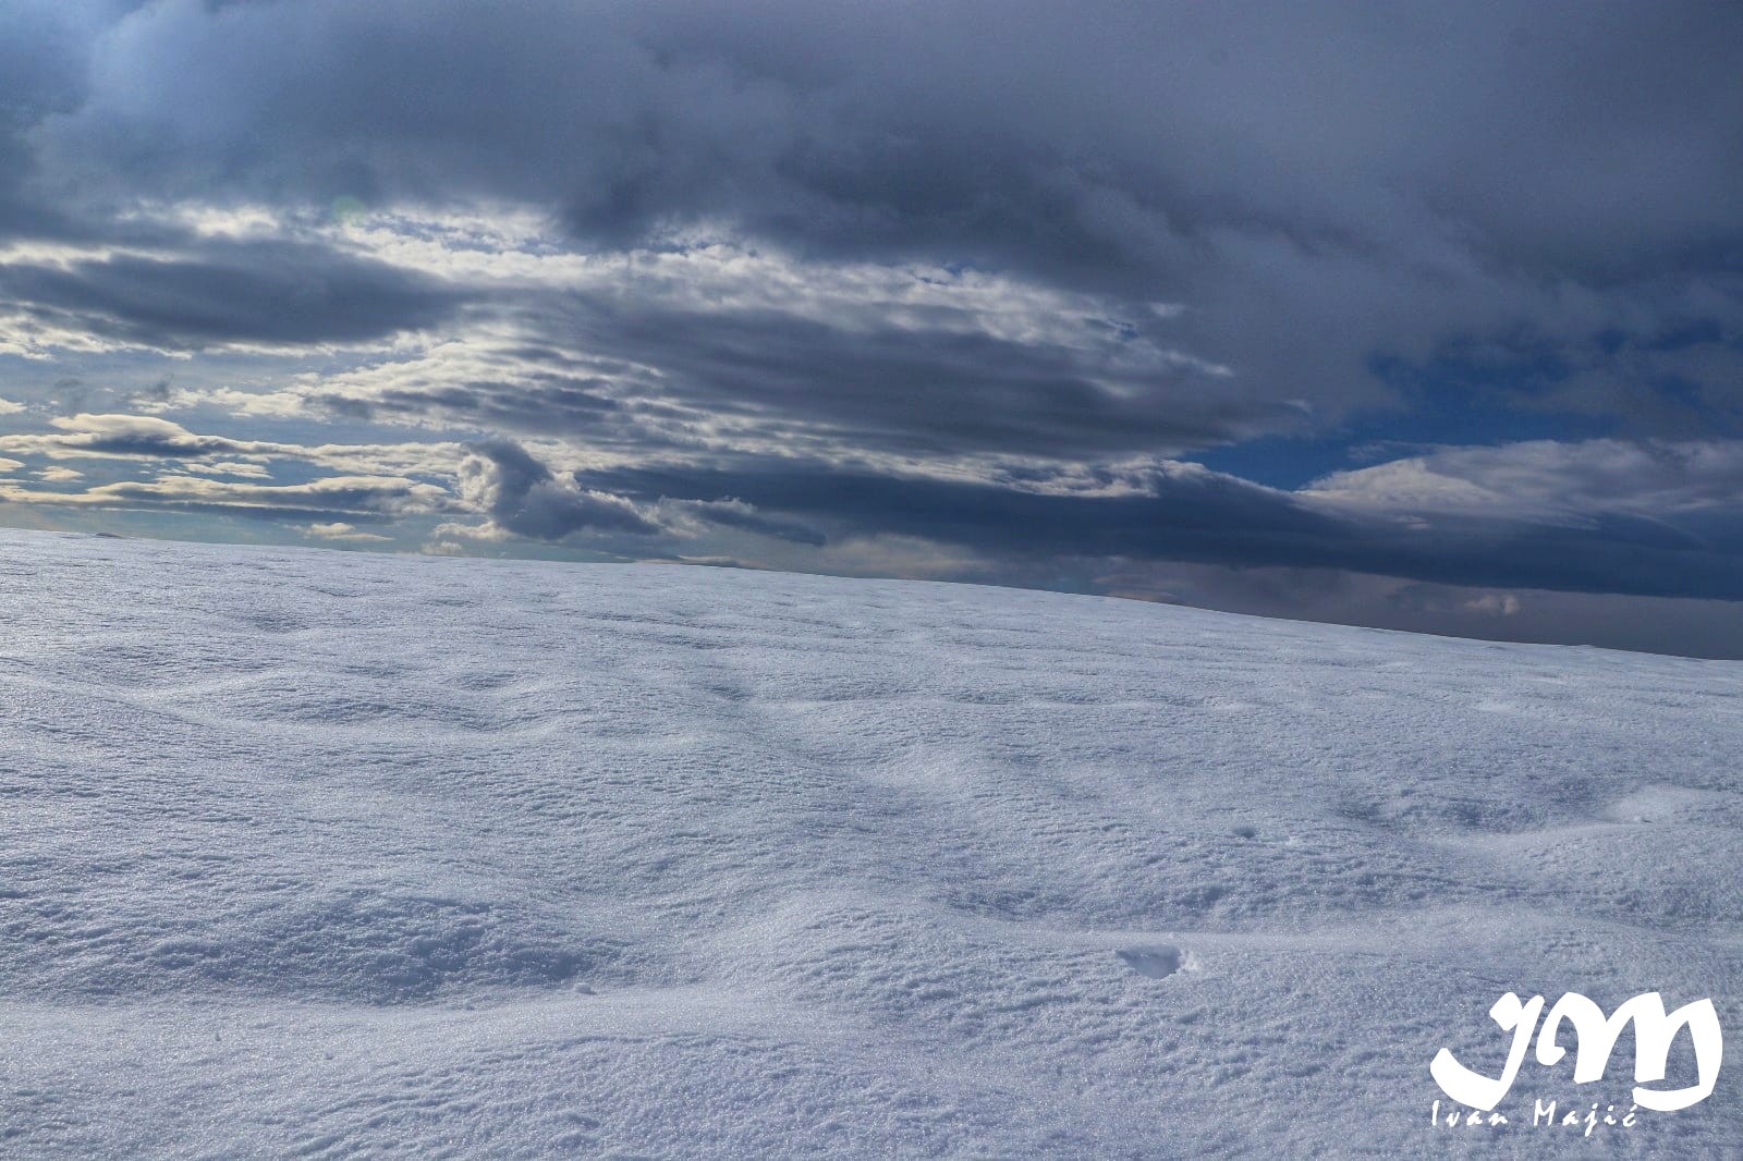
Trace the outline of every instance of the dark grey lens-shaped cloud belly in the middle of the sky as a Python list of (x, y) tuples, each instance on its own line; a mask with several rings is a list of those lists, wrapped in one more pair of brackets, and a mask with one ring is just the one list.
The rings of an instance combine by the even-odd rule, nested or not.
[[(852, 274), (835, 272), (835, 282), (830, 293)], [(418, 368), (401, 380), (422, 385), (317, 389), (305, 403), (359, 420), (566, 434), (643, 453), (706, 441), (722, 420), (765, 441), (807, 436), (854, 453), (1053, 458), (1175, 452), (1307, 425), (1302, 404), (1265, 399), (1170, 350), (1166, 319), (1152, 309), (1128, 321), (1096, 316), (1096, 300), (1004, 303), (1004, 288), (973, 288), (974, 305), (994, 317), (966, 319), (948, 300), (901, 302), (894, 281), (880, 289), (898, 296), (898, 321), (863, 302), (831, 312), (816, 289), (821, 302), (788, 309), (702, 291), (577, 289), (523, 319), (563, 350), (587, 352), (584, 361), (553, 347), (530, 357), (498, 350), (458, 382), (429, 382)], [(1035, 333), (1042, 328), (1049, 333)], [(551, 370), (570, 363), (594, 373)]]

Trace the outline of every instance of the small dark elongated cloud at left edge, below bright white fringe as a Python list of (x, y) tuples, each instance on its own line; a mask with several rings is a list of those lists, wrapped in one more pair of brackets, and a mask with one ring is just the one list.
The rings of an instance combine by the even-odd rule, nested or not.
[(0, 296), (61, 326), (167, 349), (382, 338), (443, 321), (460, 298), (408, 270), (291, 242), (0, 265)]

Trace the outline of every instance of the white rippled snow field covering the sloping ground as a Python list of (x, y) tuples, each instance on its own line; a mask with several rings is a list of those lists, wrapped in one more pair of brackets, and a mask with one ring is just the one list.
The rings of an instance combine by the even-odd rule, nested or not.
[(1428, 1072), (1743, 1029), (1736, 662), (26, 532), (0, 624), (7, 1158), (1743, 1156)]

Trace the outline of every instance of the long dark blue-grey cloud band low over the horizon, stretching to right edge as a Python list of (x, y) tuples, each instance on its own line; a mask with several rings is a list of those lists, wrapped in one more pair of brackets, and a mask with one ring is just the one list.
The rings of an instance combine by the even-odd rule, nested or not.
[(763, 513), (844, 521), (1009, 560), (1185, 560), (1457, 586), (1743, 600), (1734, 509), (1722, 521), (1731, 535), (1713, 539), (1616, 511), (1570, 523), (1333, 506), (1190, 465), (1154, 474), (1138, 495), (1041, 493), (987, 481), (770, 464), (587, 472), (580, 483), (629, 497), (732, 493)]

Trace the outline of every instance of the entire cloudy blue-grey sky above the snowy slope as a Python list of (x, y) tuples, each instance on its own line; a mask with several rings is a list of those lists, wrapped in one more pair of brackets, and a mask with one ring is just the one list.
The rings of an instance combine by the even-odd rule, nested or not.
[(1743, 657), (1734, 3), (0, 0), (0, 523)]

